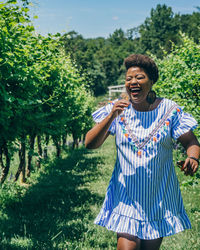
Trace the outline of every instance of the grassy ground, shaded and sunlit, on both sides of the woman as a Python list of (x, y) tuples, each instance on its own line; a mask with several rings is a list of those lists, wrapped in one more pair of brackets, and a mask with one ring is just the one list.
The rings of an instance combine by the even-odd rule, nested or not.
[[(0, 249), (116, 249), (116, 234), (93, 224), (115, 157), (110, 137), (98, 150), (46, 162), (28, 186), (8, 181), (0, 190)], [(191, 177), (177, 174), (192, 230), (165, 238), (161, 249), (200, 249), (200, 184), (185, 185)]]

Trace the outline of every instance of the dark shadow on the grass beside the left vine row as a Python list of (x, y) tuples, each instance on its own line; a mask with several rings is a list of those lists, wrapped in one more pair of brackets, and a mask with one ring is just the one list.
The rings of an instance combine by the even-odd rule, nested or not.
[[(99, 163), (100, 157), (79, 149), (46, 165), (37, 184), (3, 210), (6, 217), (0, 219), (0, 249), (58, 249), (60, 241), (82, 240), (94, 217), (90, 206), (103, 201), (86, 186), (98, 177)], [(31, 243), (15, 246), (13, 239)]]

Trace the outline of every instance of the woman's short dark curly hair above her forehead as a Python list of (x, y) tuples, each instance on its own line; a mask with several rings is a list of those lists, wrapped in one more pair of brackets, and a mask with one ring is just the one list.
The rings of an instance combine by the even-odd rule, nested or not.
[(130, 67), (142, 68), (147, 73), (149, 79), (153, 80), (153, 83), (157, 82), (159, 78), (158, 67), (156, 63), (146, 55), (132, 54), (125, 58), (124, 65), (126, 70), (128, 70)]

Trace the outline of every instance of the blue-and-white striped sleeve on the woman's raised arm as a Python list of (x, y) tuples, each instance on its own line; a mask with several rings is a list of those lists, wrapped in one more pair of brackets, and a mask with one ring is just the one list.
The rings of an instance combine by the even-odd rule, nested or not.
[[(93, 120), (96, 123), (99, 123), (103, 121), (103, 119), (108, 116), (112, 110), (113, 102), (107, 104), (106, 106), (101, 107), (100, 109), (97, 109), (94, 113), (92, 113)], [(112, 124), (110, 125), (110, 128), (108, 130), (111, 135), (114, 135), (116, 132), (116, 121), (114, 120)]]

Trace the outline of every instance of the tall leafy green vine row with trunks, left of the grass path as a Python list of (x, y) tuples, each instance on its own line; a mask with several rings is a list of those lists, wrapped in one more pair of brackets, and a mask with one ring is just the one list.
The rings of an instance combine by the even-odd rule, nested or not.
[(20, 159), (15, 180), (22, 173), (25, 181), (36, 139), (39, 167), (49, 140), (59, 156), (61, 141), (72, 135), (75, 145), (92, 122), (93, 97), (85, 77), (66, 56), (59, 35), (35, 34), (28, 13), (26, 0), (0, 4), (1, 183), (15, 152)]

